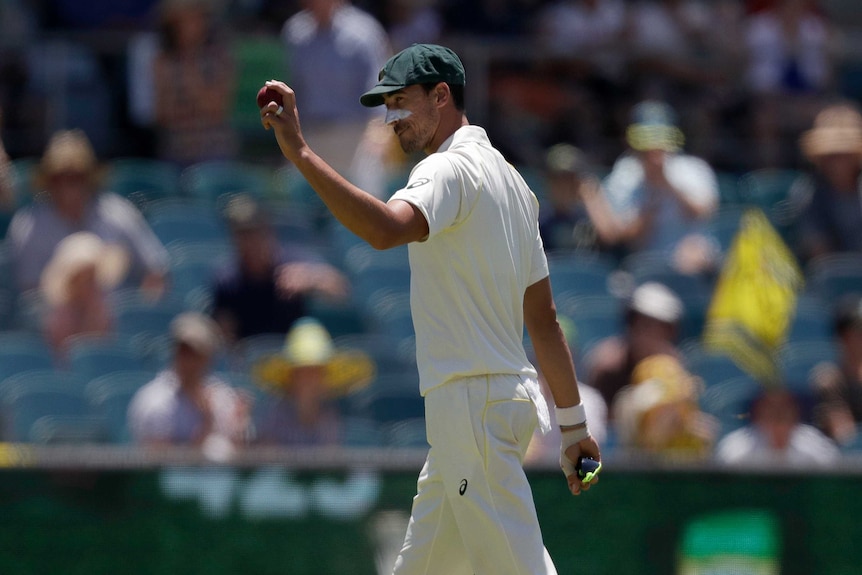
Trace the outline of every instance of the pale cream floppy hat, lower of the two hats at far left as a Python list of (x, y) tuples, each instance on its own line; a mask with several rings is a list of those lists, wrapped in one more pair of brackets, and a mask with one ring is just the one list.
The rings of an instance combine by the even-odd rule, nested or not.
[(88, 267), (96, 269), (99, 285), (110, 290), (115, 288), (129, 268), (129, 257), (120, 246), (103, 242), (99, 236), (90, 232), (77, 232), (66, 236), (51, 256), (42, 272), (41, 288), (48, 303), (65, 303), (69, 280)]

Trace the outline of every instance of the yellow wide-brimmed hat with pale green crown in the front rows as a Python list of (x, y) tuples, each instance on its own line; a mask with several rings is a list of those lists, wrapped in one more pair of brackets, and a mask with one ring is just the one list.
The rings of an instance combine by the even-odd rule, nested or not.
[(303, 367), (323, 368), (322, 383), (330, 395), (342, 395), (368, 385), (375, 375), (374, 362), (356, 350), (340, 350), (332, 336), (318, 320), (297, 320), (277, 355), (254, 366), (257, 379), (266, 387), (290, 389), (295, 370)]

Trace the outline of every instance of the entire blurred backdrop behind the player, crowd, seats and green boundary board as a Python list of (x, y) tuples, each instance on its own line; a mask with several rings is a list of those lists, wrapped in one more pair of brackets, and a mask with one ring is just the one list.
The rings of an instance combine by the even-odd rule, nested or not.
[(286, 81), (386, 199), (418, 158), (358, 97), (414, 42), (539, 200), (606, 463), (569, 501), (533, 442), (559, 571), (857, 573), (855, 0), (0, 0), (0, 571), (388, 573), (427, 450), (406, 248), (254, 102)]

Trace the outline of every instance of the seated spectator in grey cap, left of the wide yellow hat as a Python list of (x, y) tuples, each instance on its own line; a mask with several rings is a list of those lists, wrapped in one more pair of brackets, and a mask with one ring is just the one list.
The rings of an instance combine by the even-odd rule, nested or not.
[(247, 439), (249, 404), (212, 375), (221, 348), (218, 326), (197, 312), (171, 323), (173, 364), (135, 393), (129, 429), (144, 445), (192, 445), (230, 453)]

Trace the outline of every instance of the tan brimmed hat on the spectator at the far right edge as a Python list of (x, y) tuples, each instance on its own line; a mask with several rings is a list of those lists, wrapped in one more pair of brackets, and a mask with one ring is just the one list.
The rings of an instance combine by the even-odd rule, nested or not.
[(802, 134), (799, 145), (809, 160), (827, 154), (862, 154), (862, 114), (851, 104), (828, 106)]

